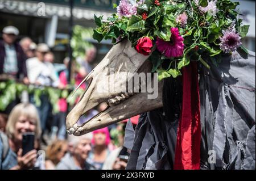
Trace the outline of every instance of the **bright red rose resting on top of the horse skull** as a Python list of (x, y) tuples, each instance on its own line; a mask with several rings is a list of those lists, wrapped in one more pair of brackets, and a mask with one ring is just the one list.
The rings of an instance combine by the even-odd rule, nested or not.
[(141, 54), (149, 55), (151, 53), (152, 47), (152, 40), (150, 40), (149, 37), (142, 37), (139, 39), (135, 49)]

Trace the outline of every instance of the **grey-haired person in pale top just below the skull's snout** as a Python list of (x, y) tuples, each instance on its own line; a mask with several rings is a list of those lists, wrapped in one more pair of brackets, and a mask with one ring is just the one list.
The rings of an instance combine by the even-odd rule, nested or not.
[(57, 170), (94, 170), (86, 159), (92, 150), (91, 140), (92, 133), (83, 134), (82, 136), (68, 136), (69, 153), (56, 166)]

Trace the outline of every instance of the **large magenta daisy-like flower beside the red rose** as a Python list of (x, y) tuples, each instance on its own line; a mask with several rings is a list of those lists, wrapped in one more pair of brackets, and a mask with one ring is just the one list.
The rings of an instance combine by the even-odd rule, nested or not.
[(183, 56), (184, 39), (180, 36), (178, 28), (171, 28), (171, 41), (164, 41), (157, 37), (156, 47), (166, 57), (180, 57)]

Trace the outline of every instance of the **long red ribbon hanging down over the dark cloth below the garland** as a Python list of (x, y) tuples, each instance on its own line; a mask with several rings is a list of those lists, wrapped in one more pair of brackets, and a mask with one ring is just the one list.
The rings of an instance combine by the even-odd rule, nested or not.
[(197, 63), (183, 68), (183, 103), (177, 130), (175, 170), (200, 169), (200, 98)]

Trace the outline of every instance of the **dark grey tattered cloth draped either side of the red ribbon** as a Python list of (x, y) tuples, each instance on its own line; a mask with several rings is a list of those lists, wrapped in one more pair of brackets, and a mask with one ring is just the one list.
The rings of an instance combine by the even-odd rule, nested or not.
[[(222, 56), (199, 69), (201, 169), (255, 169), (255, 53)], [(173, 169), (181, 94), (179, 80), (164, 80), (163, 104), (141, 115), (133, 131), (126, 169)]]

